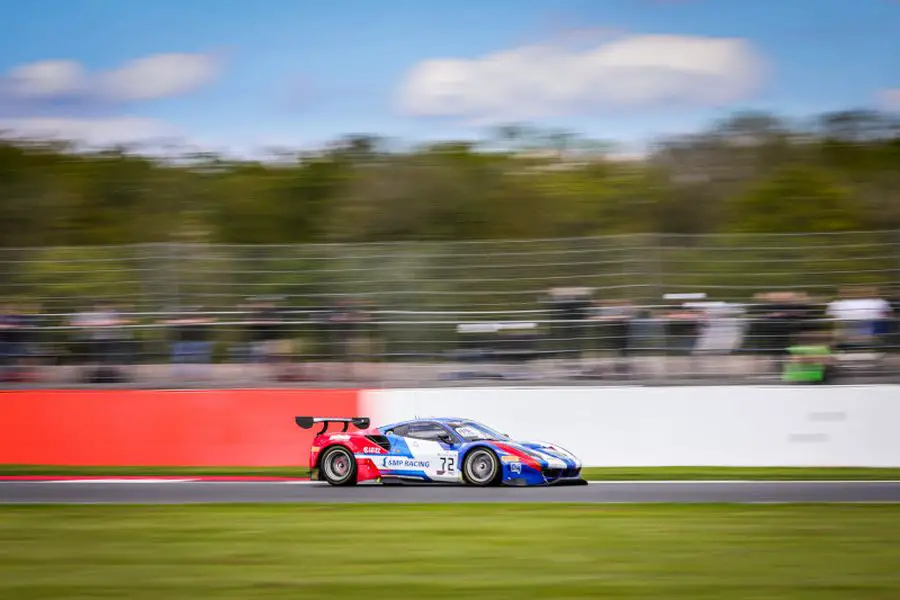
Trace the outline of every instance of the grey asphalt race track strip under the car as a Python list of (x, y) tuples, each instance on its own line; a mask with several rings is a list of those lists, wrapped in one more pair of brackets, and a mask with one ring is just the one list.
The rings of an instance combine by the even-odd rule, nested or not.
[(900, 503), (900, 481), (597, 481), (577, 487), (357, 486), (309, 481), (0, 481), (0, 504)]

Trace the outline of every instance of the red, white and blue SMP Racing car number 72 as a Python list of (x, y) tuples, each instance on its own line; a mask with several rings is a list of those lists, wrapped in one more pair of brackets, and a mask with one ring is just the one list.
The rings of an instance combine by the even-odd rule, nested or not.
[[(587, 483), (581, 461), (556, 444), (515, 441), (472, 419), (412, 419), (370, 427), (368, 417), (294, 418), (321, 424), (309, 451), (312, 478), (357, 483), (535, 486)], [(331, 423), (341, 431), (328, 433)], [(349, 431), (353, 425), (360, 431)]]

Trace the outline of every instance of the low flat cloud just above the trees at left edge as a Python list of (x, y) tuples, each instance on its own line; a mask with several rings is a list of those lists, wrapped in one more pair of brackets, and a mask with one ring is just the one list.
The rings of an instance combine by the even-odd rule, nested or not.
[(0, 132), (9, 132), (12, 137), (68, 140), (88, 146), (142, 143), (178, 136), (178, 131), (168, 124), (140, 117), (0, 119)]

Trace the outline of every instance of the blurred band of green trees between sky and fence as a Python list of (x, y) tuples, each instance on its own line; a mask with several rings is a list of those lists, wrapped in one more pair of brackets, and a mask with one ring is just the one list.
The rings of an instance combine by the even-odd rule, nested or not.
[(641, 160), (568, 132), (394, 148), (347, 136), (277, 161), (0, 141), (0, 245), (294, 244), (900, 229), (900, 126), (740, 113)]

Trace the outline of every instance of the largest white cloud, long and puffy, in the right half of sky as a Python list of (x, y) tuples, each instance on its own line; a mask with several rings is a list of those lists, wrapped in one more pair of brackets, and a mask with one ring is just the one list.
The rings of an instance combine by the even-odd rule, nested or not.
[(764, 74), (744, 40), (629, 36), (574, 51), (527, 46), (475, 59), (435, 59), (407, 73), (402, 110), (476, 121), (614, 107), (721, 105), (746, 97)]

